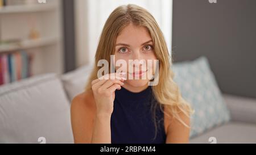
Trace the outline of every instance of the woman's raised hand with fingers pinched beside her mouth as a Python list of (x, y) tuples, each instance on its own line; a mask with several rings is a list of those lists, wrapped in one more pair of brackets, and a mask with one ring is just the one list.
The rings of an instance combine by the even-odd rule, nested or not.
[[(115, 90), (120, 90), (125, 78), (121, 73), (111, 73), (92, 81), (92, 91), (96, 102), (97, 115), (112, 115)], [(110, 78), (112, 77), (112, 78)]]

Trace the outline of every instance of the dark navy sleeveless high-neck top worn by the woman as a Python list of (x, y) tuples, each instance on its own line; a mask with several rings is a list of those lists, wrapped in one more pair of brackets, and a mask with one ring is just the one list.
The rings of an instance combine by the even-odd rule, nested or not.
[[(151, 110), (154, 106), (156, 106), (155, 121), (152, 116), (154, 110)], [(116, 90), (110, 121), (112, 143), (166, 143), (163, 116), (159, 104), (153, 97), (151, 86), (139, 93), (133, 93), (124, 87)], [(158, 127), (157, 133), (154, 122)]]

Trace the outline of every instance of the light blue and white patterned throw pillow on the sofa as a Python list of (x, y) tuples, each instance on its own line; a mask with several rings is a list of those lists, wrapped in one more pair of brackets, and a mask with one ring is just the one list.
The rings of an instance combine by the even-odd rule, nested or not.
[(230, 120), (229, 110), (206, 57), (177, 62), (172, 69), (181, 95), (195, 110), (191, 116), (190, 137)]

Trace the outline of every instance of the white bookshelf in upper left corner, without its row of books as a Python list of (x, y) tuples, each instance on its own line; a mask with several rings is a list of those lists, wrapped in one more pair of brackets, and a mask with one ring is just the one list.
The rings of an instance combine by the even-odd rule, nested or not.
[[(36, 2), (0, 8), (0, 40), (20, 40), (0, 44), (0, 55), (26, 51), (33, 57), (33, 75), (63, 73), (62, 1)], [(31, 28), (39, 32), (38, 39), (29, 39)]]

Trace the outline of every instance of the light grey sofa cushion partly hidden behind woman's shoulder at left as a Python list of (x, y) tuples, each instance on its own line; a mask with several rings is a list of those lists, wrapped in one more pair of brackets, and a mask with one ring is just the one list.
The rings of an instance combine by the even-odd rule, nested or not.
[(84, 91), (85, 84), (90, 76), (90, 72), (92, 72), (92, 69), (91, 65), (86, 65), (61, 76), (61, 80), (63, 81), (65, 91), (68, 94), (70, 101), (77, 94)]

